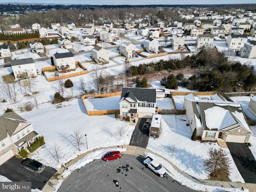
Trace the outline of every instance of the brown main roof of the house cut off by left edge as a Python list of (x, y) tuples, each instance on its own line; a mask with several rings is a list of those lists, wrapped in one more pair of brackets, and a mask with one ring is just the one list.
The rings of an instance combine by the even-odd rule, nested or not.
[(0, 141), (8, 135), (12, 136), (20, 122), (31, 124), (15, 112), (8, 112), (0, 116)]

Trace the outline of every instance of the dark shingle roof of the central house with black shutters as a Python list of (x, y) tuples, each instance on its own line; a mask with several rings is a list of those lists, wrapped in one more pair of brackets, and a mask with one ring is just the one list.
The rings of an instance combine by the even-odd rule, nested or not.
[(131, 98), (135, 102), (156, 102), (156, 89), (123, 87), (119, 102)]

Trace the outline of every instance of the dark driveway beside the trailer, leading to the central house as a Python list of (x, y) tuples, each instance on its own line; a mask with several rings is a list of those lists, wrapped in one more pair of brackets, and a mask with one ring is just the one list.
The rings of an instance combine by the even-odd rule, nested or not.
[(136, 127), (132, 133), (130, 144), (132, 146), (138, 146), (146, 148), (149, 139), (149, 128), (143, 127), (145, 125), (146, 118), (139, 118)]

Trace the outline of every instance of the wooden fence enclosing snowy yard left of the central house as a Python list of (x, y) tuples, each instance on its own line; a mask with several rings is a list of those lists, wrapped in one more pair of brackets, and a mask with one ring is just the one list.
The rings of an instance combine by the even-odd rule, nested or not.
[[(121, 92), (106, 93), (106, 94), (87, 94), (82, 96), (82, 100), (86, 98), (104, 98), (104, 97), (114, 97), (114, 96), (121, 96)], [(120, 113), (119, 109), (88, 111), (86, 108), (86, 105), (84, 104), (84, 101), (83, 101), (83, 105), (88, 115), (110, 115), (110, 114), (115, 114), (116, 111), (118, 112), (118, 114)]]

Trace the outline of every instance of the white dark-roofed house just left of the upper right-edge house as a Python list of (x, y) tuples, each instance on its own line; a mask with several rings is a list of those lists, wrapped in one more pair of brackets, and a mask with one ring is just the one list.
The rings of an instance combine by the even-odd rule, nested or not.
[(244, 46), (244, 43), (247, 42), (247, 35), (243, 34), (230, 34), (227, 37), (226, 44), (228, 48), (233, 48), (235, 50), (240, 50)]

